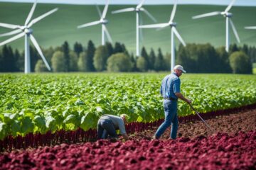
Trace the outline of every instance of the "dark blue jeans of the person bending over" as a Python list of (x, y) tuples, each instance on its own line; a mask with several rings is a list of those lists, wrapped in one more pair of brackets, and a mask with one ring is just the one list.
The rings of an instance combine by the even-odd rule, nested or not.
[(107, 137), (117, 137), (117, 132), (114, 128), (114, 124), (110, 119), (102, 119), (97, 123), (97, 139), (107, 139)]

